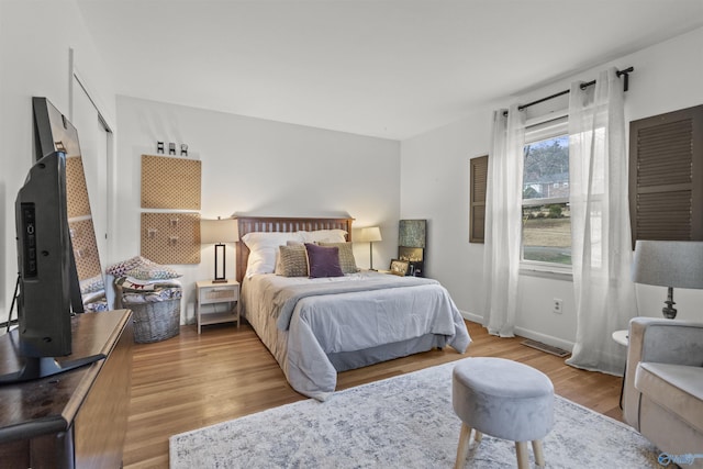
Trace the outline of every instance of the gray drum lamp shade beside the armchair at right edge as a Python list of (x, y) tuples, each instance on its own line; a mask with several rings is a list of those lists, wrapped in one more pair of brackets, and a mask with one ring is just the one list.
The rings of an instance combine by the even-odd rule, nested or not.
[(703, 288), (703, 242), (641, 241), (635, 244), (635, 283)]

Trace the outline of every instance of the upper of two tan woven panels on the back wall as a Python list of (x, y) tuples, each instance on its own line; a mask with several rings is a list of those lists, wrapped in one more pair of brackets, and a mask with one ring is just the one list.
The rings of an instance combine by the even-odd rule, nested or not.
[(197, 159), (142, 155), (142, 209), (200, 210)]

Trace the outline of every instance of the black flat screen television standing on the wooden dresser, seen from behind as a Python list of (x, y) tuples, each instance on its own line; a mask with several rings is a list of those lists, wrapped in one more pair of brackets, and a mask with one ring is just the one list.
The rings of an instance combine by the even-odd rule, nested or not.
[(20, 294), (20, 353), (25, 357), (71, 354), (71, 267), (66, 210), (66, 154), (40, 159), (15, 200)]

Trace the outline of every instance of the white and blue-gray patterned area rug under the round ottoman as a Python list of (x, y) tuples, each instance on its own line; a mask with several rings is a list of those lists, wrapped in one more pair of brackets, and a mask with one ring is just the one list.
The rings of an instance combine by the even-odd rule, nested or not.
[[(327, 402), (310, 399), (175, 435), (170, 466), (450, 468), (461, 425), (451, 409), (455, 365), (338, 391)], [(656, 448), (629, 426), (559, 397), (555, 414), (544, 439), (548, 468), (660, 467)], [(486, 435), (479, 445), (471, 442), (467, 467), (516, 467), (515, 445)]]

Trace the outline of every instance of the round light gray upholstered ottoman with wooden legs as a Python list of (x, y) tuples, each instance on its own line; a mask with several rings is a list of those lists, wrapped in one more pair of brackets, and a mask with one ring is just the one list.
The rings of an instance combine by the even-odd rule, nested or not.
[(469, 358), (453, 373), (451, 404), (461, 418), (455, 467), (464, 467), (471, 429), (515, 442), (517, 467), (529, 467), (527, 442), (537, 466), (545, 465), (542, 448), (554, 424), (554, 386), (545, 373), (503, 358)]

